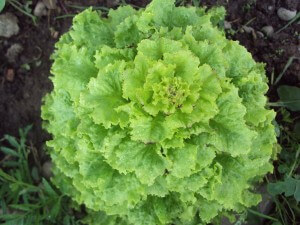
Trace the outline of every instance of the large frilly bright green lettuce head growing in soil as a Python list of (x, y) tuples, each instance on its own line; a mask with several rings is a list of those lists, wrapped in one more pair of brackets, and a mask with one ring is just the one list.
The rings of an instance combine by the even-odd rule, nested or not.
[(259, 203), (275, 113), (224, 14), (174, 0), (87, 9), (56, 44), (42, 106), (53, 180), (95, 224), (206, 224)]

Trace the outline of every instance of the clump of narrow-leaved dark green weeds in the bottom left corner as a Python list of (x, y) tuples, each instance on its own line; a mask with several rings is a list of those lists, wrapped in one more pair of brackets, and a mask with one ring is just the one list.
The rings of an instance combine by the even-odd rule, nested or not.
[(30, 128), (19, 130), (20, 139), (5, 135), (0, 140), (0, 224), (81, 224), (72, 209), (78, 206), (29, 163), (32, 152), (26, 136)]

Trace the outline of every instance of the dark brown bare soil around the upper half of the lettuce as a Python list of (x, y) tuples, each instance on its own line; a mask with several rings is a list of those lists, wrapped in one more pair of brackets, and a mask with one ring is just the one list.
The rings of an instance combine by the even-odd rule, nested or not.
[[(22, 2), (22, 1), (21, 1)], [(25, 2), (25, 1), (24, 1)], [(29, 140), (41, 149), (49, 138), (42, 129), (40, 107), (43, 96), (52, 89), (49, 80), (54, 44), (59, 35), (66, 32), (71, 25), (70, 14), (79, 11), (68, 5), (116, 7), (118, 0), (88, 0), (57, 1), (57, 9), (48, 12), (48, 16), (38, 19), (37, 25), (23, 13), (16, 11), (10, 5), (4, 12), (11, 12), (18, 17), (20, 32), (9, 39), (0, 38), (0, 137), (4, 134), (18, 135), (18, 129), (33, 124)], [(128, 0), (127, 3), (138, 7), (145, 6), (148, 0)], [(186, 1), (187, 2), (187, 1)], [(295, 22), (271, 37), (261, 37), (262, 27), (273, 26), (275, 32), (287, 24), (277, 16), (277, 9), (285, 7), (300, 11), (299, 0), (202, 0), (201, 6), (212, 7), (223, 5), (227, 9), (226, 21), (232, 29), (227, 30), (227, 36), (238, 40), (259, 61), (266, 63), (266, 72), (271, 80), (281, 73), (290, 57), (300, 58), (300, 24)], [(37, 1), (33, 1), (32, 7)], [(59, 19), (57, 16), (66, 16)], [(247, 25), (254, 32), (243, 32), (242, 26)], [(58, 34), (58, 36), (57, 36)], [(15, 63), (8, 62), (5, 56), (7, 49), (15, 43), (23, 47)], [(300, 61), (293, 63), (286, 70), (278, 85), (300, 84)], [(277, 86), (278, 86), (277, 85)], [(276, 101), (276, 87), (270, 85), (268, 96), (270, 101)]]

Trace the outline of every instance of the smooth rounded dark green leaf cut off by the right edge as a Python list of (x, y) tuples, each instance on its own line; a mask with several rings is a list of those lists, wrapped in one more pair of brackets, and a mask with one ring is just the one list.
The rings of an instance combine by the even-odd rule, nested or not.
[(300, 88), (282, 85), (277, 92), (283, 106), (291, 111), (300, 111)]

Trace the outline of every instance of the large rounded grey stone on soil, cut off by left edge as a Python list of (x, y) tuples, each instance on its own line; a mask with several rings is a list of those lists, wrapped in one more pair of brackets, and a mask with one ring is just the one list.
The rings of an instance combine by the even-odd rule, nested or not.
[(0, 37), (10, 38), (19, 33), (18, 18), (12, 13), (0, 15)]

